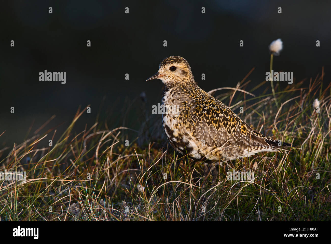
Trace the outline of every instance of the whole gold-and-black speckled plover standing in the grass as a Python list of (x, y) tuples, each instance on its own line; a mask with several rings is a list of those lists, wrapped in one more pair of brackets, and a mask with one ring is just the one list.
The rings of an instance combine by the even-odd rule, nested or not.
[(163, 114), (164, 131), (178, 152), (222, 165), (227, 160), (291, 146), (284, 142), (278, 146), (278, 141), (255, 131), (230, 108), (198, 87), (184, 58), (167, 57), (159, 67), (158, 73), (148, 80), (161, 79), (166, 86), (162, 104), (179, 108), (178, 113)]

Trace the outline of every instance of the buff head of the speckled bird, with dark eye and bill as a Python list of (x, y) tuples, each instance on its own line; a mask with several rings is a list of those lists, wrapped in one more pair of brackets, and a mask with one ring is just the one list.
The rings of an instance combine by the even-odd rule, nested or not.
[(196, 84), (191, 67), (185, 58), (170, 56), (165, 58), (159, 65), (159, 71), (146, 81), (160, 79), (170, 88), (173, 86), (185, 86)]

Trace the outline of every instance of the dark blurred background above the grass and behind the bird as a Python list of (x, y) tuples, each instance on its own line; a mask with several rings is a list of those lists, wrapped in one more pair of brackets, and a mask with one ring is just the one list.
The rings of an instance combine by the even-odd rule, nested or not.
[[(78, 132), (99, 120), (98, 113), (110, 129), (138, 129), (139, 123), (130, 123), (136, 121), (134, 116), (124, 121), (122, 115), (140, 101), (142, 92), (146, 108), (161, 101), (162, 82), (145, 80), (170, 55), (186, 58), (206, 91), (235, 87), (252, 68), (249, 79), (254, 85), (264, 81), (269, 70), (268, 45), (281, 38), (284, 48), (274, 58), (274, 70), (294, 72), (294, 82), (309, 82), (324, 66), (324, 81), (329, 82), (330, 9), (330, 1), (307, 0), (1, 1), (0, 134), (6, 132), (0, 146), (22, 143), (30, 126), (28, 137), (53, 115), (56, 118), (39, 133), (63, 123), (60, 135), (78, 107), (88, 104), (91, 114), (84, 113)], [(38, 73), (45, 69), (66, 71), (67, 83), (39, 81)], [(10, 113), (12, 106), (15, 114)]]

